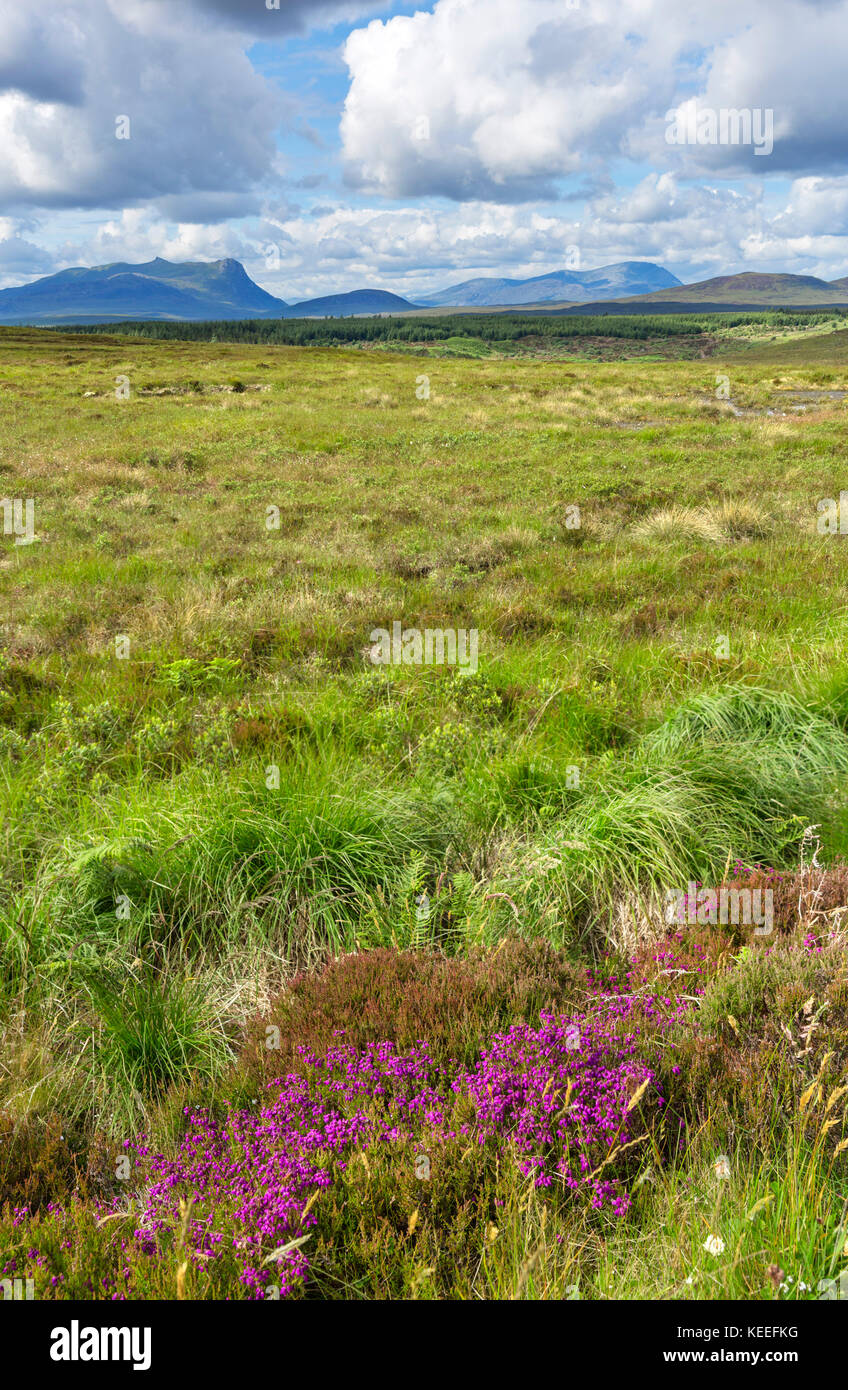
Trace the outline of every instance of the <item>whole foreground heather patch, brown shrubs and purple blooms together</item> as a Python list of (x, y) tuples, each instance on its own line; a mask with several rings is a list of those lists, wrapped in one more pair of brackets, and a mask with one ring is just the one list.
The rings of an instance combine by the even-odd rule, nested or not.
[(13, 1126), (0, 1276), (39, 1298), (477, 1297), (503, 1287), (496, 1269), (520, 1284), (532, 1209), (562, 1297), (587, 1232), (638, 1223), (653, 1166), (691, 1163), (706, 1120), (715, 1177), (740, 1130), (766, 1145), (798, 1120), (809, 1140), (816, 1081), (822, 1144), (842, 1154), (824, 1109), (842, 1054), (817, 1019), (842, 1016), (844, 956), (826, 937), (808, 951), (698, 924), (596, 974), (519, 940), (342, 958), (274, 1004), (278, 1047), (259, 1027), (225, 1083), (167, 1093), (122, 1145), (127, 1182), (106, 1144), (70, 1195), (63, 1130), (58, 1177), (22, 1183)]

